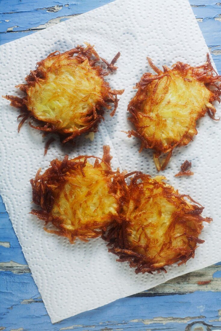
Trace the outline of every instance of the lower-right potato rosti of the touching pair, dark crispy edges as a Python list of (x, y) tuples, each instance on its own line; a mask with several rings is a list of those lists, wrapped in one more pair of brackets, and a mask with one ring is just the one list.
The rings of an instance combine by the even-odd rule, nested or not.
[(198, 238), (202, 222), (212, 220), (201, 216), (201, 205), (163, 179), (135, 174), (126, 189), (121, 222), (103, 234), (113, 245), (109, 251), (119, 256), (118, 261), (129, 261), (136, 273), (166, 272), (166, 265), (186, 263), (194, 257), (197, 244), (204, 242)]

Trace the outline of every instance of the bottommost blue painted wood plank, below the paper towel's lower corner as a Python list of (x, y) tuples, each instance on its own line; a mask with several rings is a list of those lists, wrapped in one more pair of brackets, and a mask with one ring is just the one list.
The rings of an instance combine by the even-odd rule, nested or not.
[[(6, 273), (8, 302), (3, 302), (0, 326), (6, 330), (174, 330), (183, 331), (188, 324), (202, 322), (210, 325), (209, 330), (220, 324), (220, 293), (195, 292), (186, 295), (155, 297), (132, 297), (52, 325), (37, 289), (28, 286), (30, 275)], [(209, 304), (208, 304), (209, 303)], [(33, 318), (34, 317), (34, 318)], [(204, 329), (198, 329), (198, 331)]]

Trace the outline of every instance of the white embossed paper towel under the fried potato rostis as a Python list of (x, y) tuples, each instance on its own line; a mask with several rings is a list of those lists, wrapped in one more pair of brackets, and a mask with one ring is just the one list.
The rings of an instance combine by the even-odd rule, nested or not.
[[(79, 137), (71, 148), (54, 142), (44, 157), (45, 138), (41, 132), (25, 123), (18, 134), (19, 110), (10, 107), (7, 100), (0, 100), (0, 193), (53, 323), (221, 260), (221, 123), (208, 116), (199, 120), (199, 133), (193, 142), (176, 149), (162, 172), (180, 193), (190, 194), (205, 206), (204, 216), (213, 217), (200, 235), (205, 243), (186, 265), (167, 267), (167, 274), (136, 275), (126, 262), (115, 262), (116, 256), (107, 252), (102, 239), (88, 243), (77, 240), (71, 245), (66, 238), (46, 233), (42, 221), (28, 214), (32, 208), (29, 179), (39, 167), (44, 170), (52, 159), (62, 159), (66, 153), (70, 158), (79, 154), (102, 156), (102, 146), (109, 144), (113, 169), (120, 164), (128, 171), (156, 175), (152, 152), (143, 150), (139, 154), (139, 140), (121, 132), (132, 128), (126, 110), (136, 93), (133, 86), (145, 71), (150, 71), (146, 56), (159, 67), (176, 61), (200, 65), (208, 52), (188, 0), (116, 0), (1, 46), (1, 94), (23, 96), (14, 86), (24, 82), (37, 61), (55, 50), (66, 51), (83, 42), (94, 44), (98, 54), (109, 61), (121, 52), (118, 71), (106, 79), (112, 88), (125, 88), (116, 115), (105, 115), (93, 142)], [(220, 107), (217, 110), (219, 115)], [(186, 159), (192, 161), (194, 176), (174, 177)]]

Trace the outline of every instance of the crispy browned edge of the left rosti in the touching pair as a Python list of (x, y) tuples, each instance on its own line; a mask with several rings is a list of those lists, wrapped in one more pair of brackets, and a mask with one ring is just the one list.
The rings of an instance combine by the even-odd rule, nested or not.
[[(36, 215), (38, 218), (45, 221), (45, 225), (51, 222), (58, 230), (48, 230), (44, 227), (45, 231), (50, 233), (55, 233), (57, 235), (61, 235), (67, 237), (71, 243), (75, 241), (78, 237), (83, 241), (87, 241), (88, 238), (96, 238), (101, 235), (101, 224), (97, 222), (97, 224), (91, 224), (88, 222), (85, 226), (82, 226), (80, 229), (76, 229), (75, 231), (69, 231), (62, 226), (60, 226), (62, 220), (59, 217), (54, 217), (52, 215), (52, 208), (54, 204), (54, 197), (52, 193), (52, 188), (50, 185), (53, 185), (53, 188), (57, 187), (60, 191), (64, 187), (66, 180), (65, 174), (70, 170), (80, 170), (82, 176), (84, 174), (84, 167), (88, 159), (95, 159), (94, 167), (99, 166), (100, 160), (104, 163), (107, 167), (105, 170), (105, 175), (110, 177), (110, 186), (109, 186), (109, 193), (113, 194), (118, 202), (118, 210), (120, 212), (121, 205), (122, 205), (122, 194), (121, 194), (121, 177), (119, 176), (119, 170), (112, 171), (111, 169), (111, 159), (110, 156), (110, 147), (104, 146), (103, 147), (103, 158), (100, 159), (95, 156), (78, 156), (75, 159), (68, 160), (68, 155), (66, 155), (63, 161), (59, 161), (55, 159), (50, 162), (50, 167), (43, 173), (40, 174), (41, 169), (39, 169), (36, 173), (34, 179), (30, 180), (31, 187), (32, 187), (32, 201), (36, 205), (40, 206), (40, 210), (32, 209), (31, 214)], [(81, 159), (81, 160), (80, 160)], [(83, 161), (82, 161), (83, 159)], [(111, 179), (113, 178), (113, 181)], [(110, 216), (110, 222), (116, 220), (117, 216)], [(97, 225), (97, 229), (94, 230), (94, 225)], [(93, 229), (91, 227), (93, 226)], [(105, 230), (105, 227), (102, 227)], [(87, 231), (84, 235), (82, 231)]]

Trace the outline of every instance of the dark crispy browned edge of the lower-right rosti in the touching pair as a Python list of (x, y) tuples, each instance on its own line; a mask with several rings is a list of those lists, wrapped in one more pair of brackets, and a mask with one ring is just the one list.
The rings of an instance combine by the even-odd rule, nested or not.
[[(124, 179), (126, 179), (128, 176), (131, 176), (132, 174), (135, 174), (135, 176), (131, 179), (131, 183), (129, 186), (127, 186), (127, 184), (122, 184), (122, 187), (124, 187), (125, 190), (125, 200), (124, 200), (124, 204), (128, 203), (127, 199), (129, 199), (129, 197), (136, 197), (136, 192), (135, 190), (137, 189), (141, 189), (140, 187), (138, 188), (138, 181), (145, 181), (145, 180), (149, 180), (150, 176), (149, 175), (145, 175), (142, 172), (132, 172), (126, 175), (122, 174), (122, 178), (121, 178), (121, 182), (123, 183), (123, 176)], [(160, 183), (158, 184), (160, 185)], [(164, 186), (163, 186), (164, 187)], [(167, 196), (168, 198), (171, 197), (171, 195), (176, 195), (176, 197), (179, 198), (187, 198), (189, 199), (194, 206), (193, 210), (190, 210), (190, 218), (191, 221), (194, 222), (194, 224), (196, 225), (197, 231), (196, 231), (196, 235), (195, 236), (189, 236), (188, 240), (189, 242), (194, 242), (194, 245), (192, 247), (192, 249), (190, 249), (186, 255), (182, 255), (177, 259), (174, 260), (168, 260), (165, 261), (165, 266), (166, 265), (170, 265), (176, 262), (179, 262), (178, 265), (181, 265), (183, 263), (186, 263), (187, 260), (189, 260), (190, 258), (194, 258), (195, 255), (195, 249), (197, 248), (197, 244), (201, 244), (204, 242), (204, 240), (201, 240), (198, 238), (198, 235), (201, 233), (201, 230), (203, 228), (202, 222), (211, 222), (212, 218), (210, 217), (202, 217), (201, 213), (204, 209), (204, 207), (202, 207), (200, 204), (198, 204), (197, 202), (195, 202), (189, 195), (181, 195), (178, 193), (178, 191), (176, 191), (176, 193), (173, 193), (173, 188), (169, 187), (167, 189), (165, 189), (165, 196)], [(134, 192), (134, 193), (133, 193)], [(117, 255), (119, 257), (119, 259), (117, 259), (117, 261), (119, 262), (125, 262), (128, 261), (130, 264), (130, 267), (135, 267), (135, 272), (136, 273), (153, 273), (154, 271), (157, 271), (158, 273), (161, 271), (167, 272), (166, 269), (164, 267), (156, 269), (155, 267), (153, 267), (150, 263), (147, 262), (147, 258), (145, 255), (142, 255), (140, 253), (137, 253), (132, 245), (129, 243), (128, 239), (127, 239), (127, 224), (128, 224), (128, 220), (126, 220), (125, 217), (121, 216), (120, 221), (115, 221), (112, 223), (112, 226), (110, 226), (108, 228), (108, 230), (102, 231), (102, 238), (108, 242), (107, 246), (110, 246), (111, 248), (108, 249), (109, 252)], [(170, 228), (168, 229), (168, 231), (170, 232)], [(165, 234), (166, 235), (166, 234)]]

